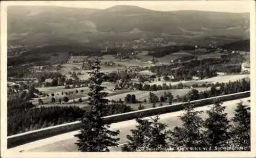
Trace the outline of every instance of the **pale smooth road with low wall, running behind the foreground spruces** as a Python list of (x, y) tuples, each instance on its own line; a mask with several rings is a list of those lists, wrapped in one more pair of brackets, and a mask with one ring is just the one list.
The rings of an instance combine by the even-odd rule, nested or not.
[[(236, 108), (236, 103), (242, 100), (245, 104), (250, 105), (247, 101), (250, 97), (226, 101), (223, 104), (226, 106), (225, 112), (228, 113), (228, 117), (233, 116), (233, 109)], [(196, 108), (196, 111), (205, 111), (210, 106), (204, 106)], [(167, 123), (168, 128), (173, 129), (176, 125), (180, 125), (181, 121), (177, 116), (181, 115), (182, 111), (174, 112), (174, 113), (167, 113), (160, 115), (161, 122)], [(207, 117), (207, 114), (203, 113), (201, 115), (203, 118)], [(113, 123), (111, 125), (111, 129), (119, 129), (120, 130), (120, 141), (119, 144), (126, 143), (126, 135), (130, 134), (130, 130), (134, 129), (136, 125), (135, 120), (123, 121), (118, 123)], [(50, 137), (47, 139), (38, 140), (35, 142), (31, 142), (28, 144), (24, 144), (21, 146), (17, 146), (14, 148), (9, 149), (12, 152), (18, 152), (24, 150), (24, 152), (34, 151), (34, 152), (77, 152), (77, 146), (74, 144), (76, 142), (76, 138), (74, 138), (74, 134), (77, 134), (78, 131), (72, 131), (70, 133)], [(116, 148), (112, 148), (111, 151), (120, 151), (120, 146)]]

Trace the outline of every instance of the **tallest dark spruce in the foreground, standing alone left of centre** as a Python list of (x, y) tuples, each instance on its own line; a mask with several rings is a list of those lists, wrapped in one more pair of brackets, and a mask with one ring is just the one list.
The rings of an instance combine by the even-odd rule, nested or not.
[(104, 87), (101, 87), (103, 81), (106, 80), (106, 75), (100, 72), (100, 61), (98, 58), (95, 63), (92, 64), (92, 72), (88, 72), (91, 77), (89, 105), (91, 109), (84, 113), (83, 119), (81, 119), (82, 127), (80, 133), (75, 135), (78, 138), (78, 142), (75, 143), (78, 146), (79, 151), (109, 151), (109, 147), (118, 146), (119, 138), (116, 138), (119, 134), (119, 130), (110, 130), (110, 125), (103, 122), (102, 117), (108, 110), (108, 99), (104, 97), (108, 93), (101, 92)]

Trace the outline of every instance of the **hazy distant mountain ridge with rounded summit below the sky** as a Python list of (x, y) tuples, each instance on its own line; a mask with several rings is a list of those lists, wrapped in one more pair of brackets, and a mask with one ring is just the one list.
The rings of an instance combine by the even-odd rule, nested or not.
[(154, 11), (136, 6), (108, 9), (56, 6), (8, 7), (8, 44), (90, 43), (170, 37), (174, 42), (249, 39), (249, 13)]

